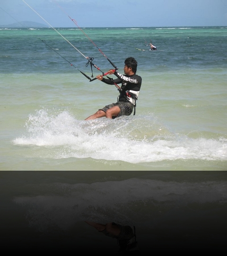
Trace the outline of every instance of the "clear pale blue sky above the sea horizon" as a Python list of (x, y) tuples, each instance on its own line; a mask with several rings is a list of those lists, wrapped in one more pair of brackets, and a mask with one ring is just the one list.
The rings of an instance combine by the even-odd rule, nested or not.
[(227, 0), (0, 0), (0, 25), (75, 27), (72, 19), (79, 27), (227, 26)]

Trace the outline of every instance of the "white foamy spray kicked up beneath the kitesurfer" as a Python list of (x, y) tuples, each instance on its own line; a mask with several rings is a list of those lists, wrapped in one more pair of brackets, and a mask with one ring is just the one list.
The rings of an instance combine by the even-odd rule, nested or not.
[[(153, 116), (81, 121), (68, 111), (37, 110), (15, 145), (39, 146), (39, 157), (78, 157), (146, 163), (163, 160), (227, 160), (227, 141), (190, 138), (163, 127)], [(49, 148), (49, 149), (48, 149)], [(32, 155), (30, 155), (31, 157)]]

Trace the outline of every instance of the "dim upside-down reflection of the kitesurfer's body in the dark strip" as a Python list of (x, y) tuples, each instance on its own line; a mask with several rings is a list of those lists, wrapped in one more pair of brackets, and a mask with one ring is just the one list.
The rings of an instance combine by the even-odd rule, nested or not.
[(140, 249), (136, 240), (136, 227), (123, 226), (114, 222), (100, 224), (91, 221), (85, 221), (88, 225), (94, 227), (99, 232), (110, 238), (116, 238), (119, 245), (118, 255), (140, 255)]

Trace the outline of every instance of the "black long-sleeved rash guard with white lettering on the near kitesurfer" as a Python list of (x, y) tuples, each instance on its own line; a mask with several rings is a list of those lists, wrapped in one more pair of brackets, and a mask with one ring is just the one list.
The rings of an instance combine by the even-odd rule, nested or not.
[(137, 74), (133, 75), (126, 75), (126, 74), (120, 74), (117, 71), (114, 72), (114, 75), (117, 77), (117, 79), (106, 79), (103, 78), (102, 82), (105, 82), (107, 84), (116, 84), (122, 83), (120, 95), (118, 98), (118, 101), (128, 102), (127, 100), (127, 92), (126, 91), (140, 91), (140, 87), (142, 84), (142, 78), (141, 76)]

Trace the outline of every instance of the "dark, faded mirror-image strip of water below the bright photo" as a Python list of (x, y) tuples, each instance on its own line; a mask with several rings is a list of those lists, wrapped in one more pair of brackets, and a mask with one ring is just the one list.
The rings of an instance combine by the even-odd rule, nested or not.
[(0, 207), (1, 248), (17, 254), (142, 256), (227, 247), (225, 171), (2, 171)]

